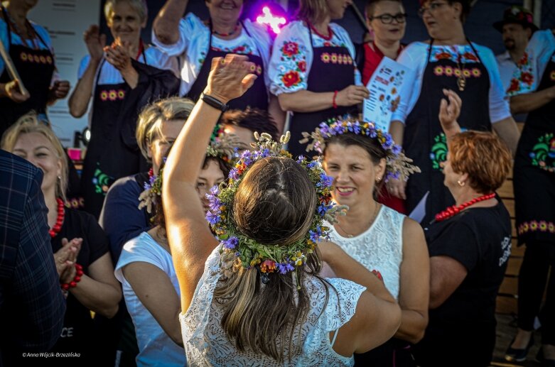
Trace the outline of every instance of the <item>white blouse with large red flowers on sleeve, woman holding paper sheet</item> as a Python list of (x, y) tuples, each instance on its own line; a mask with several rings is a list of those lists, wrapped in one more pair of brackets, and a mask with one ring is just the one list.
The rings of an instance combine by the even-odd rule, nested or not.
[[(355, 63), (355, 46), (352, 44), (349, 33), (335, 23), (330, 23), (330, 28), (333, 35), (329, 40), (320, 37), (316, 32), (312, 32), (312, 46), (311, 33), (302, 21), (293, 21), (281, 29), (274, 41), (270, 59), (269, 77), (272, 94), (277, 96), (281, 93), (293, 93), (308, 88), (308, 74), (311, 72), (313, 47), (346, 47), (352, 59), (355, 84), (362, 84), (360, 72), (358, 72)], [(286, 75), (289, 75), (289, 77)], [(291, 75), (294, 75), (294, 77), (290, 77)]]

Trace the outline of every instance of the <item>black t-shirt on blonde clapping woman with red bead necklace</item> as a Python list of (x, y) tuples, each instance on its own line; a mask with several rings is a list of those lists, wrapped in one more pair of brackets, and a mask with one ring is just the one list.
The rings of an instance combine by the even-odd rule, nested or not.
[[(53, 252), (62, 247), (62, 239), (71, 241), (82, 238), (81, 250), (77, 254), (77, 263), (82, 265), (83, 272), (89, 275), (89, 266), (109, 252), (109, 241), (95, 217), (80, 210), (65, 208), (65, 216), (62, 228), (50, 243)], [(77, 287), (79, 284), (77, 283)], [(65, 311), (64, 325), (60, 339), (50, 351), (60, 353), (80, 353), (90, 361), (95, 342), (95, 326), (92, 323), (90, 310), (83, 306), (71, 292), (68, 295), (67, 308)], [(60, 362), (60, 358), (55, 358)], [(63, 359), (63, 358), (62, 358)], [(66, 358), (72, 360), (72, 358)], [(75, 363), (75, 358), (72, 363)]]

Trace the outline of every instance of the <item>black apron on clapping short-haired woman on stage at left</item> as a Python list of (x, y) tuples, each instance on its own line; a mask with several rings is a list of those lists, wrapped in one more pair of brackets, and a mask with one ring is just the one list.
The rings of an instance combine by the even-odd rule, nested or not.
[[(144, 48), (141, 55), (146, 64)], [(95, 79), (90, 143), (81, 175), (85, 211), (97, 219), (109, 187), (118, 178), (139, 172), (142, 162), (136, 142), (124, 141), (123, 125), (126, 119), (119, 116), (131, 87), (125, 81), (119, 84), (98, 84), (105, 63), (106, 60), (103, 59)]]

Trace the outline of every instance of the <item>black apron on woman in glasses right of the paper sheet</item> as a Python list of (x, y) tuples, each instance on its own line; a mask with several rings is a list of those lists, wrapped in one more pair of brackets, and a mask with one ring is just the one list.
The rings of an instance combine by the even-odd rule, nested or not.
[[(490, 77), (470, 40), (473, 56), (478, 62), (460, 63), (451, 57), (430, 62), (433, 40), (426, 58), (420, 96), (406, 118), (403, 148), (407, 157), (414, 160), (421, 173), (411, 175), (406, 185), (406, 209), (411, 212), (429, 191), (426, 200), (426, 216), (422, 223), (431, 219), (446, 207), (455, 204), (453, 195), (443, 185), (440, 163), (447, 158), (446, 137), (439, 122), (439, 104), (445, 98), (443, 89), (452, 89), (463, 100), (458, 124), (464, 130), (491, 131)], [(457, 75), (462, 68), (466, 85), (458, 89)]]

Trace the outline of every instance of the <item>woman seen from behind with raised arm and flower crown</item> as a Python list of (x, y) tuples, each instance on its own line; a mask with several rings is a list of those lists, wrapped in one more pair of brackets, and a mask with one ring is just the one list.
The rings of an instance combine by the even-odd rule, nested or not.
[[(351, 366), (399, 327), (400, 310), (382, 282), (325, 238), (323, 217), (337, 208), (317, 161), (292, 160), (258, 136), (227, 185), (210, 193), (204, 222), (195, 179), (225, 103), (252, 84), (254, 65), (227, 55), (212, 61), (163, 172), (168, 242), (180, 283), (180, 322), (193, 366)], [(184, 205), (187, 203), (187, 205)], [(328, 214), (328, 215), (326, 215)], [(343, 279), (318, 276), (322, 261)], [(371, 330), (371, 332), (368, 332)]]

